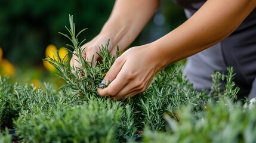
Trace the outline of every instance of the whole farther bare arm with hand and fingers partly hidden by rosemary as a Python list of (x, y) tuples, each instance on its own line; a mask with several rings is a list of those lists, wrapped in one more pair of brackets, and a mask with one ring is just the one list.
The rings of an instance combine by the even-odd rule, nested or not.
[[(116, 55), (116, 46), (120, 50), (127, 48), (138, 36), (146, 23), (150, 20), (159, 5), (159, 0), (117, 0), (109, 20), (104, 24), (101, 32), (90, 42), (85, 43), (81, 48), (85, 50), (82, 56), (91, 61), (94, 55), (94, 62), (98, 59), (99, 46), (105, 45), (110, 39), (109, 52)], [(70, 66), (80, 67), (78, 57), (73, 55)]]

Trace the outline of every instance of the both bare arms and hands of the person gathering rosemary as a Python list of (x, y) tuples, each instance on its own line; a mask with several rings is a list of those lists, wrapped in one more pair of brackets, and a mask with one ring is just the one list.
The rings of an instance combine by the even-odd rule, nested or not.
[[(112, 40), (122, 50), (137, 37), (159, 5), (156, 0), (118, 0), (100, 34), (86, 43), (84, 57), (90, 60), (98, 45)], [(117, 58), (104, 77), (111, 81), (98, 94), (112, 99), (132, 97), (146, 91), (158, 71), (227, 38), (256, 7), (256, 0), (208, 0), (189, 20), (155, 42), (128, 49)], [(70, 64), (79, 66), (72, 57)], [(95, 57), (97, 60), (98, 57)]]

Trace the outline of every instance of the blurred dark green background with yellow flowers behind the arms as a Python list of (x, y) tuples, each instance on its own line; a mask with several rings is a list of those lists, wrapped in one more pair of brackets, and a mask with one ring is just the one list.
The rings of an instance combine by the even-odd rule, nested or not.
[[(44, 82), (61, 85), (55, 71), (42, 64), (45, 49), (53, 44), (59, 49), (69, 43), (58, 32), (67, 33), (68, 15), (74, 16), (76, 30), (88, 28), (81, 39), (90, 41), (100, 32), (115, 1), (97, 0), (0, 0), (1, 76), (7, 74), (13, 82)], [(162, 3), (152, 20), (131, 46), (155, 41), (186, 20), (183, 8), (170, 0)], [(0, 51), (1, 52), (1, 51)]]

